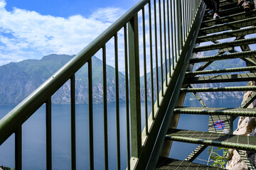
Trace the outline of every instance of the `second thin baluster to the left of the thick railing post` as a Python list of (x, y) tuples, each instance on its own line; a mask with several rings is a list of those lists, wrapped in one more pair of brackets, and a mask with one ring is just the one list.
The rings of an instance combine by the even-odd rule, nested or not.
[(118, 46), (117, 33), (114, 35), (114, 64), (115, 64), (115, 93), (116, 93), (116, 120), (117, 120), (117, 169), (120, 165), (120, 127), (119, 127), (119, 78), (118, 78)]

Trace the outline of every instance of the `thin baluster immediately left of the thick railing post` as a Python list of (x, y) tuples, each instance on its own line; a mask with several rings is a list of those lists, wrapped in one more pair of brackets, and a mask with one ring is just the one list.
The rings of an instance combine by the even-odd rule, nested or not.
[(127, 25), (124, 26), (124, 68), (125, 68), (125, 101), (127, 123), (127, 170), (130, 166), (130, 137), (129, 137), (129, 79), (128, 79), (128, 50), (127, 50)]

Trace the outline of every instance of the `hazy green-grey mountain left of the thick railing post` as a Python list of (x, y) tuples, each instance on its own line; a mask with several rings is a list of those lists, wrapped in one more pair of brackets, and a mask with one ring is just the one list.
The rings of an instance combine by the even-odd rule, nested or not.
[[(0, 104), (12, 105), (23, 101), (51, 75), (74, 57), (70, 55), (48, 55), (41, 60), (24, 60), (11, 62), (0, 67)], [(107, 101), (115, 101), (114, 67), (107, 65)], [(87, 64), (75, 74), (76, 103), (88, 102)], [(124, 75), (119, 72), (119, 100), (124, 101)], [(102, 103), (102, 61), (92, 57), (93, 101)], [(70, 81), (66, 82), (55, 94), (52, 103), (70, 102)]]

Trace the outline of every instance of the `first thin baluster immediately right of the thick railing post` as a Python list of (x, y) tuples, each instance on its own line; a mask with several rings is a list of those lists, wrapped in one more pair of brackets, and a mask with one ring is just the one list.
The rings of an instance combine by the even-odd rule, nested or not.
[(148, 108), (147, 108), (147, 86), (146, 86), (146, 28), (145, 28), (145, 7), (142, 8), (142, 27), (143, 27), (143, 57), (144, 57), (144, 100), (145, 100), (145, 128), (148, 135)]

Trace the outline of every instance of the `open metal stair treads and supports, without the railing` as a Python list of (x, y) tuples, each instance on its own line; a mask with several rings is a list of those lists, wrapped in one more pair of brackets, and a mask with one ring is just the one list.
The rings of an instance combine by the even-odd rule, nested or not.
[[(253, 3), (252, 6), (254, 6)], [(208, 10), (206, 10), (206, 12), (207, 11)], [(255, 100), (255, 92), (247, 98), (247, 101), (242, 103), (240, 108), (208, 108), (197, 93), (215, 91), (255, 91), (256, 86), (193, 87), (196, 84), (206, 84), (207, 86), (207, 84), (212, 83), (218, 84), (256, 80), (256, 52), (250, 50), (249, 47), (249, 45), (255, 44), (256, 39), (245, 38), (245, 35), (256, 33), (255, 9), (245, 13), (242, 7), (237, 6), (236, 1), (220, 1), (219, 15), (221, 17), (214, 20), (208, 13), (205, 14), (196, 40), (198, 44), (201, 42), (213, 42), (213, 45), (202, 45), (194, 47), (193, 49), (194, 53), (218, 50), (218, 54), (214, 56), (191, 58), (189, 62), (191, 65), (204, 63), (201, 64), (201, 67), (196, 69), (196, 71), (191, 71), (192, 67), (188, 69), (186, 77), (183, 80), (183, 88), (181, 88), (180, 91), (180, 96), (185, 96), (186, 93), (193, 93), (203, 107), (182, 107), (177, 104), (174, 109), (173, 120), (171, 120), (172, 123), (177, 124), (180, 114), (209, 115), (208, 132), (179, 130), (176, 129), (175, 125), (169, 128), (166, 134), (164, 149), (168, 148), (168, 145), (169, 148), (171, 147), (171, 141), (198, 144), (198, 147), (184, 161), (170, 159), (166, 157), (167, 154), (163, 155), (163, 157), (159, 159), (157, 169), (220, 169), (218, 167), (208, 167), (192, 163), (207, 146), (237, 149), (248, 168), (255, 169), (240, 150), (256, 152), (256, 137), (233, 135), (233, 120), (235, 120), (235, 118), (238, 116), (256, 116), (255, 108), (247, 108), (247, 106)], [(225, 38), (235, 38), (235, 40), (228, 42), (218, 41)], [(239, 52), (235, 50), (235, 47), (240, 47), (242, 51)], [(234, 58), (244, 60), (247, 67), (205, 70), (206, 67), (216, 60), (226, 62)], [(179, 100), (181, 101), (178, 101), (178, 103), (183, 103), (183, 99), (184, 98), (180, 97)], [(225, 130), (216, 127), (215, 123), (225, 125)]]

